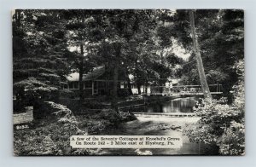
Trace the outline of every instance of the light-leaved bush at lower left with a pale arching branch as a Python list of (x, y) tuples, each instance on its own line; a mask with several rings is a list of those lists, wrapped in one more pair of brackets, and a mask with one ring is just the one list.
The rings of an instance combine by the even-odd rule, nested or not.
[[(79, 130), (77, 119), (67, 107), (46, 102), (52, 108), (52, 119), (42, 119), (36, 128), (14, 131), (15, 155), (73, 155), (77, 149), (69, 146), (71, 135), (86, 135)], [(79, 154), (90, 154), (83, 149)]]

